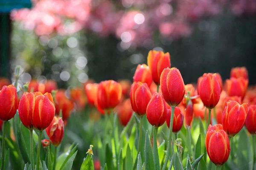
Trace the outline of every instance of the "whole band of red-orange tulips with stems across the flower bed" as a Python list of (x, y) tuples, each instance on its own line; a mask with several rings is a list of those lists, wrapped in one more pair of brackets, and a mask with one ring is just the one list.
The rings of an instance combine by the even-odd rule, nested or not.
[[(126, 126), (125, 128), (131, 126), (130, 122), (133, 121), (134, 117), (137, 120), (137, 156), (134, 160), (137, 169), (141, 169), (142, 166), (139, 165), (139, 163), (142, 164), (140, 162), (141, 147), (145, 143), (145, 150), (147, 150), (146, 144), (149, 138), (153, 148), (151, 152), (154, 154), (154, 162), (153, 164), (148, 163), (145, 156), (145, 169), (159, 170), (161, 167), (165, 170), (168, 163), (169, 169), (171, 169), (172, 158), (175, 157), (175, 145), (177, 145), (177, 153), (182, 154), (182, 146), (179, 138), (177, 138), (177, 133), (183, 126), (190, 133), (194, 118), (200, 118), (206, 124), (207, 131), (201, 134), (205, 135), (205, 150), (204, 154), (195, 160), (196, 165), (194, 163), (194, 165), (191, 165), (188, 159), (186, 168), (190, 164), (190, 167), (194, 169), (203, 156), (204, 162), (207, 163), (207, 155), (210, 161), (220, 168), (230, 156), (232, 137), (239, 133), (244, 125), (253, 136), (254, 144), (256, 134), (256, 89), (253, 87), (247, 88), (248, 73), (245, 67), (233, 68), (230, 79), (227, 79), (224, 85), (221, 75), (218, 73), (204, 73), (198, 78), (197, 85), (185, 85), (180, 71), (177, 68), (171, 68), (169, 53), (152, 50), (148, 53), (148, 65), (139, 64), (133, 80), (133, 84), (126, 80), (119, 82), (113, 80), (102, 81), (99, 84), (89, 81), (84, 84), (84, 88), (76, 87), (69, 90), (56, 90), (57, 84), (55, 81), (38, 84), (37, 81), (32, 80), (28, 86), (24, 86), (23, 94), (18, 99), (15, 86), (4, 86), (8, 84), (8, 81), (2, 79), (0, 81), (0, 86), (3, 86), (0, 91), (0, 119), (3, 121), (2, 162), (5, 160), (6, 122), (10, 121), (18, 110), (17, 114), (20, 121), (30, 132), (30, 166), (32, 170), (34, 168), (38, 170), (40, 164), (42, 164), (40, 161), (41, 143), (44, 147), (49, 147), (50, 143), (55, 146), (54, 161), (51, 165), (55, 169), (57, 147), (64, 137), (64, 126), (67, 124), (71, 112), (74, 109), (78, 112), (83, 110), (86, 104), (90, 106), (91, 110), (96, 108), (99, 113), (105, 115), (105, 133), (111, 133), (114, 138), (112, 149), (115, 150), (113, 153), (116, 155), (113, 154), (113, 157), (118, 162), (118, 165), (113, 166), (113, 168), (119, 166), (119, 154), (121, 152), (119, 148), (121, 145), (116, 143), (118, 142), (116, 141), (116, 131), (118, 130), (115, 129), (113, 116), (117, 116), (119, 122), (124, 127)], [(17, 86), (17, 84), (15, 85)], [(146, 135), (143, 135), (144, 115), (153, 127), (152, 133), (147, 132)], [(107, 127), (108, 117), (112, 124), (110, 128)], [(161, 127), (165, 122), (169, 127), (169, 134), (165, 138), (167, 142), (163, 157), (165, 159), (162, 161), (163, 164), (160, 165), (158, 153), (155, 156), (154, 148), (157, 148), (157, 131), (163, 129)], [(212, 124), (215, 125), (212, 126)], [(124, 133), (127, 132), (125, 128)], [(38, 130), (36, 164), (33, 160), (32, 141), (33, 130), (35, 129)], [(49, 140), (41, 139), (44, 130)], [(176, 143), (172, 133), (175, 134)], [(143, 140), (143, 137), (146, 139)], [(146, 151), (145, 155), (147, 154), (150, 154), (150, 152)], [(88, 150), (88, 155), (93, 155), (92, 146)], [(93, 167), (90, 158), (85, 159), (87, 162), (82, 165), (84, 169), (87, 169), (87, 164)], [(158, 158), (158, 160), (155, 158)], [(3, 170), (3, 166), (2, 163), (1, 170)], [(88, 165), (88, 169), (90, 169), (90, 166)]]

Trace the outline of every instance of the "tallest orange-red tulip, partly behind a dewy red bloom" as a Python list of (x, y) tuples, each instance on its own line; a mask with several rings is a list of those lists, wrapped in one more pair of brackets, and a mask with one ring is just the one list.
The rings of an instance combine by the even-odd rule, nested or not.
[(163, 69), (171, 67), (170, 54), (169, 52), (157, 52), (151, 50), (148, 52), (148, 67), (151, 71), (152, 80), (157, 86), (160, 85), (160, 76)]

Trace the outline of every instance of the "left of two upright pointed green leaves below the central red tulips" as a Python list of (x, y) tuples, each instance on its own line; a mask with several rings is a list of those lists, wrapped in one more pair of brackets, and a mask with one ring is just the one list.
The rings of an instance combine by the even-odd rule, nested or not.
[(144, 156), (145, 156), (145, 169), (154, 170), (154, 158), (153, 158), (151, 142), (148, 137), (148, 130), (146, 131), (146, 136), (145, 136)]

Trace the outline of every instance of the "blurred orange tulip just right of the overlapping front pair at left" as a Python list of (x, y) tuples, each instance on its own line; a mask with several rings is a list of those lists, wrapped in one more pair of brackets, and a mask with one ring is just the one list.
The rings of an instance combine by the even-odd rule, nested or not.
[(58, 90), (55, 94), (56, 115), (59, 115), (61, 111), (63, 121), (67, 121), (73, 108), (74, 104), (69, 98), (66, 97), (65, 90)]

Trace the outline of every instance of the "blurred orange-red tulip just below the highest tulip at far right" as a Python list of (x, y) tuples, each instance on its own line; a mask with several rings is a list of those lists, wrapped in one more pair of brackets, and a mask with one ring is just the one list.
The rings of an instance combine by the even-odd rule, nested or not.
[(247, 91), (248, 80), (244, 78), (230, 78), (226, 80), (226, 91), (229, 96), (239, 96), (244, 99)]

